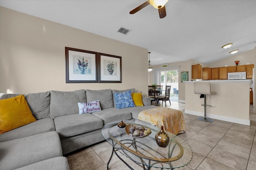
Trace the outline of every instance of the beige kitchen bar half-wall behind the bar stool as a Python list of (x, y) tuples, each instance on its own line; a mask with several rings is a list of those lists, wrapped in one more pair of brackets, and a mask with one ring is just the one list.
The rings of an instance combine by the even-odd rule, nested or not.
[[(204, 116), (204, 98), (194, 94), (194, 82), (185, 83), (185, 113)], [(211, 91), (216, 95), (207, 95), (207, 117), (250, 126), (250, 80), (207, 80)]]

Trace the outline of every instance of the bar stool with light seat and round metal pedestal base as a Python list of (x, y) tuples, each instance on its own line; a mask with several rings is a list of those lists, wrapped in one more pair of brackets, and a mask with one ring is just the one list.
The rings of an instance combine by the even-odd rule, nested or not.
[[(210, 82), (194, 82), (194, 93), (201, 94), (204, 96), (204, 117), (198, 117), (199, 121), (213, 122), (214, 120), (206, 117), (206, 106), (211, 107), (211, 105), (206, 105), (206, 95), (215, 95), (215, 91), (211, 91)], [(202, 98), (202, 97), (200, 97)]]

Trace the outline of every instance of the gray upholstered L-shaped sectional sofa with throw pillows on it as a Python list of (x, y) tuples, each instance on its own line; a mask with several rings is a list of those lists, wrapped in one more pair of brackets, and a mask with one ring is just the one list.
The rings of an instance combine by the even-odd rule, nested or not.
[[(135, 89), (127, 89), (134, 93)], [(47, 91), (24, 95), (36, 121), (0, 134), (0, 169), (68, 170), (63, 154), (101, 142), (101, 128), (112, 121), (137, 119), (140, 111), (151, 109), (150, 98), (144, 106), (117, 109), (113, 93), (118, 90)], [(18, 94), (4, 94), (8, 99)], [(101, 111), (78, 114), (78, 102), (100, 101)]]

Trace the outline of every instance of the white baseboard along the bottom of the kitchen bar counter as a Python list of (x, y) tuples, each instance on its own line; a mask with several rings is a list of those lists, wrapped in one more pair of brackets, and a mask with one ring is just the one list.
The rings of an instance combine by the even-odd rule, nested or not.
[[(185, 113), (190, 114), (190, 115), (196, 115), (196, 116), (204, 116), (204, 113), (197, 112), (197, 111), (185, 110)], [(241, 124), (241, 125), (250, 126), (250, 119), (249, 120), (237, 119), (237, 118), (233, 118), (233, 117), (213, 115), (213, 114), (210, 114), (210, 113), (207, 113), (207, 117), (212, 118), (212, 119), (217, 119), (217, 120), (220, 120), (220, 121), (226, 121), (226, 122), (232, 122), (232, 123), (238, 123), (238, 124)]]

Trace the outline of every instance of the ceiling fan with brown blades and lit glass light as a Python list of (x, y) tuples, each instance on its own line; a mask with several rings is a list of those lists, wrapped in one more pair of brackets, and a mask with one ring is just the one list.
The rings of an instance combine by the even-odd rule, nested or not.
[(130, 14), (135, 14), (142, 8), (148, 6), (149, 4), (154, 6), (154, 8), (158, 9), (159, 17), (164, 18), (166, 16), (166, 11), (165, 11), (165, 4), (168, 2), (168, 0), (148, 0), (135, 8), (134, 10), (130, 11)]

